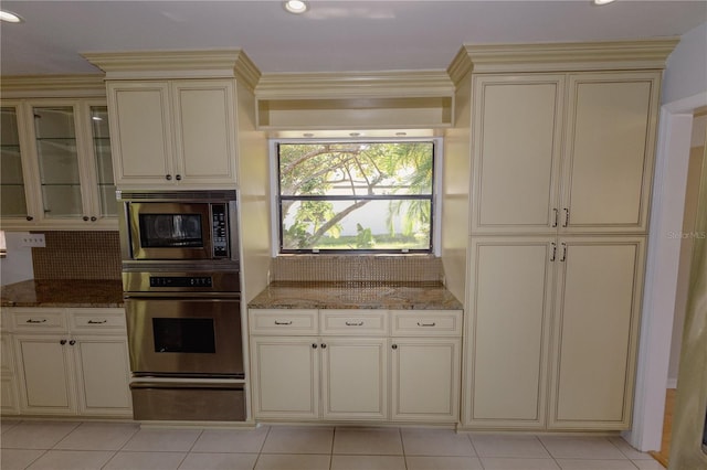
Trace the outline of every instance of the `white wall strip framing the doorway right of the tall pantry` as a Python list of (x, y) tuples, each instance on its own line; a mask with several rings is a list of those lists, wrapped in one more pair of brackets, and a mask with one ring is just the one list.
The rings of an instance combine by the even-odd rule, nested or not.
[(625, 434), (640, 450), (661, 448), (665, 387), (675, 312), (693, 113), (707, 105), (707, 23), (684, 34), (667, 61), (663, 82), (651, 235), (633, 426)]

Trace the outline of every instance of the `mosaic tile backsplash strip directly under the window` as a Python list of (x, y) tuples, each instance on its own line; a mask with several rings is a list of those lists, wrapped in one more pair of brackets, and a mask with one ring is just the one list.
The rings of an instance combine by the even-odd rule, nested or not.
[(273, 259), (272, 281), (442, 281), (442, 261), (434, 256), (296, 255)]

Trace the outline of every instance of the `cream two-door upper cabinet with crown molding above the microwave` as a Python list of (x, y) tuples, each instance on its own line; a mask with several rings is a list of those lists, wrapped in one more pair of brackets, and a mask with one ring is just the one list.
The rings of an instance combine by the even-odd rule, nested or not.
[(91, 53), (85, 57), (106, 72), (119, 189), (236, 185), (239, 93), (252, 95), (260, 77), (243, 52)]

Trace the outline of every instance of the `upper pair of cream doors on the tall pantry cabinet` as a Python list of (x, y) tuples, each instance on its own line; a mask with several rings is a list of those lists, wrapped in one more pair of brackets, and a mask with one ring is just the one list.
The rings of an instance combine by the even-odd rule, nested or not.
[(474, 76), (472, 235), (645, 234), (659, 76)]

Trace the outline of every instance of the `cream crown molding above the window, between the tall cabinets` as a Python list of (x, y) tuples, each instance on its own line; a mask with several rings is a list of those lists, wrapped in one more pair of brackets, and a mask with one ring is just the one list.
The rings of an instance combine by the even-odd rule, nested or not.
[(263, 74), (258, 99), (340, 99), (453, 96), (445, 71)]

